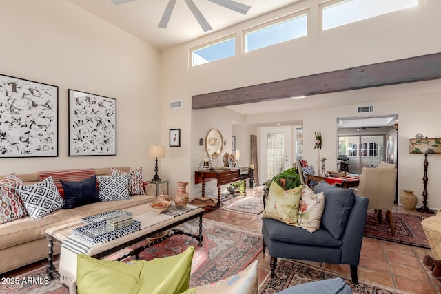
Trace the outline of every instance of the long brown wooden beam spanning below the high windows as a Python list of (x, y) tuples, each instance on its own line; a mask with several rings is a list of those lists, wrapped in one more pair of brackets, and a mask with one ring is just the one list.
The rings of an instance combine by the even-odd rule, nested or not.
[(192, 96), (192, 109), (316, 95), (441, 78), (441, 53)]

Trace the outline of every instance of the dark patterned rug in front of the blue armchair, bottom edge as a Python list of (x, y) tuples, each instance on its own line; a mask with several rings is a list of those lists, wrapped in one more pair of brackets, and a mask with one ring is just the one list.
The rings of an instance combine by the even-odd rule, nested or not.
[(317, 266), (311, 266), (296, 260), (285, 260), (279, 258), (276, 266), (276, 273), (274, 278), (271, 279), (268, 275), (266, 280), (260, 284), (259, 294), (273, 294), (282, 291), (285, 288), (296, 286), (299, 284), (305, 284), (308, 282), (314, 282), (318, 280), (327, 280), (334, 277), (341, 277), (349, 286), (351, 286), (353, 293), (356, 294), (393, 294), (402, 293), (390, 288), (384, 288), (375, 284), (368, 284), (362, 281), (358, 281), (358, 284), (352, 284), (351, 278), (321, 269)]

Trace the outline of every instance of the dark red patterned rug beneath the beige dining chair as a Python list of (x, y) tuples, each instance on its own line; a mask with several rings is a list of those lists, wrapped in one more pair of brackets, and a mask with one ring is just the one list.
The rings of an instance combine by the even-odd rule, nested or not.
[(411, 216), (403, 213), (392, 213), (395, 236), (391, 235), (391, 227), (386, 220), (385, 211), (382, 212), (381, 225), (378, 224), (378, 213), (369, 209), (365, 225), (366, 237), (387, 240), (411, 246), (429, 248), (426, 235), (421, 226), (424, 216)]

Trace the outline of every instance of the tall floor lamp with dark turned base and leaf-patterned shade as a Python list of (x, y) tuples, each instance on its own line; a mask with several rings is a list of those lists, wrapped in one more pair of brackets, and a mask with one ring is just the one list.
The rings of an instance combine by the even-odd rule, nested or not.
[(424, 189), (422, 191), (422, 207), (416, 209), (416, 211), (422, 213), (435, 213), (433, 210), (427, 207), (427, 167), (429, 162), (427, 161), (427, 154), (441, 154), (441, 139), (438, 138), (414, 138), (409, 141), (409, 153), (411, 154), (424, 154), (424, 176), (422, 177), (422, 184)]

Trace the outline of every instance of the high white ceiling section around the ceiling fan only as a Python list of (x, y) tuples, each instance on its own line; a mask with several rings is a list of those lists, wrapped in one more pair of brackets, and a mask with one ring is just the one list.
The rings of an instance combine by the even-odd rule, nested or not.
[(206, 33), (183, 0), (176, 1), (166, 29), (158, 28), (158, 23), (168, 0), (134, 0), (117, 6), (111, 0), (68, 1), (162, 50), (302, 0), (236, 0), (251, 6), (246, 15), (207, 0), (194, 0), (213, 28)]

